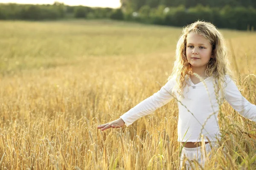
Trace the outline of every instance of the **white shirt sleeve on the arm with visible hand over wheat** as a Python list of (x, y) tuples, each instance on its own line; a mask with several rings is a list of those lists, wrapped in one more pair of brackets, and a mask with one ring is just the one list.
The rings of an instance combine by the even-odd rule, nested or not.
[(159, 91), (137, 104), (134, 108), (131, 108), (128, 112), (120, 116), (120, 118), (125, 122), (126, 126), (129, 126), (137, 119), (153, 113), (157, 108), (166, 105), (173, 99), (171, 94), (174, 85), (175, 79), (173, 77)]

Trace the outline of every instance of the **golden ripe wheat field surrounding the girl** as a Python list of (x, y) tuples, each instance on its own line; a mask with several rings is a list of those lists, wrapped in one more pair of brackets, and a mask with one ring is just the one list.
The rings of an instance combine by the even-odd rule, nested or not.
[[(181, 31), (110, 20), (0, 21), (0, 168), (177, 169), (174, 100), (129, 127), (97, 125), (165, 84)], [(256, 33), (221, 32), (241, 93), (256, 104)], [(255, 122), (227, 102), (221, 108), (221, 148), (204, 169), (255, 169)]]

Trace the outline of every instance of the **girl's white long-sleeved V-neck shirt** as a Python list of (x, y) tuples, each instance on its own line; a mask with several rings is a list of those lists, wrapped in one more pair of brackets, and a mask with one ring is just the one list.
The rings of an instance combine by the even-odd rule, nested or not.
[[(226, 83), (223, 85), (225, 92), (224, 98), (241, 116), (256, 122), (256, 105), (251, 104), (241, 95), (230, 76), (226, 75), (225, 77)], [(184, 98), (178, 97), (177, 91), (174, 88), (176, 81), (173, 77), (159, 91), (140, 102), (134, 108), (131, 108), (128, 112), (120, 116), (120, 118), (125, 122), (126, 126), (129, 126), (140, 117), (153, 113), (157, 108), (166, 105), (176, 96), (176, 99), (179, 101), (177, 101), (179, 108), (177, 141), (199, 142), (201, 141), (201, 134), (204, 135), (206, 142), (208, 139), (205, 136), (210, 141), (216, 141), (221, 136), (221, 133), (218, 125), (217, 115), (219, 107), (214, 91), (214, 79), (213, 77), (204, 79), (203, 82), (205, 82), (207, 88), (203, 82), (195, 85), (190, 77), (188, 80), (188, 85), (183, 90)], [(192, 86), (195, 87), (193, 88)], [(222, 103), (223, 101), (221, 101)], [(206, 120), (207, 122), (205, 122)], [(204, 128), (202, 129), (203, 125)]]

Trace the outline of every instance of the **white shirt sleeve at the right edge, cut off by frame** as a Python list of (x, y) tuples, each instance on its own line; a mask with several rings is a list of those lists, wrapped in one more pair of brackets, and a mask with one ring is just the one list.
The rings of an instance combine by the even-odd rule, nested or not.
[[(226, 76), (225, 99), (241, 116), (256, 122), (256, 105), (251, 104), (242, 96), (233, 80)], [(225, 83), (224, 83), (225, 85)]]

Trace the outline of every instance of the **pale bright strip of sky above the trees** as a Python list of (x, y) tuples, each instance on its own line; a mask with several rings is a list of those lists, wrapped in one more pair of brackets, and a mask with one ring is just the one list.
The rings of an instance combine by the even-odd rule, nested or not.
[(0, 0), (0, 3), (53, 4), (55, 1), (70, 6), (119, 8), (120, 0)]

